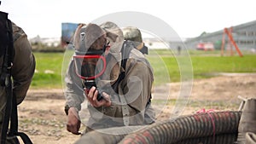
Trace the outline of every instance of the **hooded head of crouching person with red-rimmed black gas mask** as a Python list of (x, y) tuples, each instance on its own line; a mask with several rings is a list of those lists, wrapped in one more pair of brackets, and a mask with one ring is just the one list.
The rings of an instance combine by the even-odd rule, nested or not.
[(76, 55), (73, 56), (73, 60), (75, 62), (75, 72), (82, 79), (87, 94), (92, 86), (96, 87), (99, 91), (98, 101), (103, 98), (102, 92), (108, 93), (111, 84), (119, 76), (118, 65), (116, 66), (113, 58), (109, 58), (114, 57), (112, 53), (110, 54), (109, 43), (111, 43), (112, 49), (116, 48), (115, 43), (117, 42), (115, 39), (117, 37), (119, 36), (108, 32), (106, 27), (101, 28), (95, 24), (79, 26), (74, 34), (73, 42)]

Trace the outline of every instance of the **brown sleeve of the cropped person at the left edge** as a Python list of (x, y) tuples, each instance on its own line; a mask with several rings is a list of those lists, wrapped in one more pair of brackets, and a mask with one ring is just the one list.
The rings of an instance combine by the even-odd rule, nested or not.
[(14, 80), (14, 95), (17, 97), (17, 104), (20, 104), (32, 82), (36, 62), (32, 54), (31, 44), (28, 42), (25, 33), (21, 33), (20, 37), (15, 39), (14, 48), (12, 77)]

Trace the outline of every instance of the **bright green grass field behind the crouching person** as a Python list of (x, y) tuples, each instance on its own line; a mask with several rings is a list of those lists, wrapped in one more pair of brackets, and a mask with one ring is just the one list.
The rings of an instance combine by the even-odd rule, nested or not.
[[(210, 78), (216, 72), (256, 72), (256, 55), (219, 56), (214, 51), (190, 51), (190, 57), (173, 56), (169, 50), (149, 51), (147, 59), (154, 69), (155, 84), (178, 82), (181, 72), (194, 78)], [(203, 55), (205, 54), (205, 55)], [(61, 70), (64, 53), (34, 53), (37, 66), (32, 88), (61, 88)], [(67, 66), (68, 60), (65, 60)], [(191, 66), (191, 69), (189, 68)], [(189, 72), (191, 70), (192, 73)]]

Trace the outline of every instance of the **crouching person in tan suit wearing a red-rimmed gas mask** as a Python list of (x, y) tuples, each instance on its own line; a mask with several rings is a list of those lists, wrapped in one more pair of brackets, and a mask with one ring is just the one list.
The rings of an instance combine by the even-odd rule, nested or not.
[[(72, 44), (76, 52), (67, 69), (64, 93), (68, 131), (79, 135), (79, 111), (84, 100), (88, 101), (86, 107), (90, 113), (85, 133), (154, 123), (150, 104), (153, 69), (144, 55), (125, 41), (118, 26), (109, 21), (100, 26), (80, 25)], [(96, 66), (93, 68), (91, 64)], [(87, 87), (93, 79), (96, 84)]]

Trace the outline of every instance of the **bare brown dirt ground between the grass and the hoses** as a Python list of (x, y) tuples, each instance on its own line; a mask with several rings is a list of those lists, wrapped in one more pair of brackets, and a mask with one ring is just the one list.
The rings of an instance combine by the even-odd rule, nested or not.
[[(152, 103), (158, 120), (172, 117), (173, 112), (193, 114), (203, 108), (238, 110), (241, 102), (238, 95), (256, 97), (256, 73), (221, 73), (218, 77), (197, 79), (190, 95), (178, 96), (180, 87), (180, 83), (172, 83), (154, 88)], [(80, 136), (67, 132), (64, 104), (62, 89), (29, 89), (25, 101), (18, 107), (19, 130), (26, 132), (35, 144), (74, 143)]]

